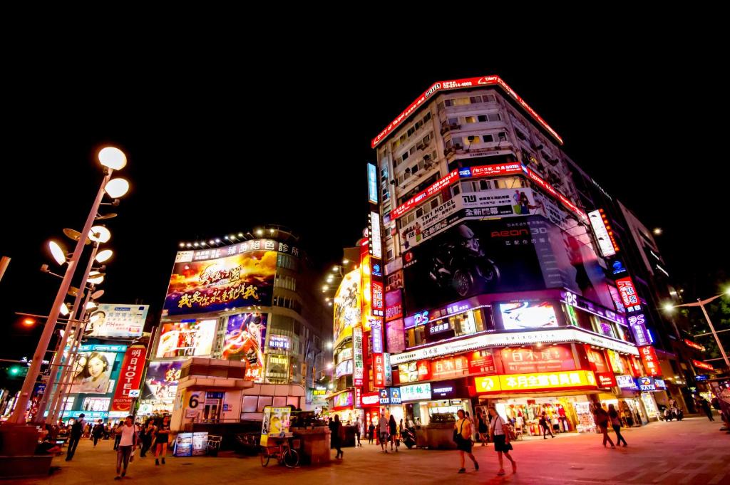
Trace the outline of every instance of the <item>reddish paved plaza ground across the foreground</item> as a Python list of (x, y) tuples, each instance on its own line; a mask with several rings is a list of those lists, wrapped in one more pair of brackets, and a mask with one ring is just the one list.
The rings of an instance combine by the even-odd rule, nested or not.
[[(496, 476), (496, 453), (491, 445), (475, 447), (477, 472), (457, 474), (456, 451), (405, 449), (383, 454), (380, 446), (346, 448), (342, 460), (324, 467), (295, 470), (278, 465), (261, 467), (258, 457), (192, 457), (166, 459), (155, 466), (153, 457), (137, 459), (128, 477), (114, 481), (115, 451), (111, 441), (80, 443), (72, 462), (57, 457), (60, 467), (40, 479), (1, 481), (0, 485), (203, 485), (203, 484), (730, 484), (730, 434), (721, 422), (691, 417), (682, 422), (653, 422), (624, 430), (629, 446), (604, 449), (600, 435), (566, 433), (555, 439), (514, 443), (518, 472)], [(613, 436), (613, 434), (611, 433)], [(332, 453), (334, 457), (334, 451)], [(505, 463), (507, 465), (507, 462)]]

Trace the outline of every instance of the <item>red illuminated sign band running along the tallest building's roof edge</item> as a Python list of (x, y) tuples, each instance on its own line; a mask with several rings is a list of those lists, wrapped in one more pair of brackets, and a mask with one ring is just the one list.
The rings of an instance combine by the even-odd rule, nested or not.
[(553, 128), (550, 128), (550, 125), (548, 123), (545, 123), (545, 120), (540, 117), (537, 112), (535, 112), (534, 109), (532, 109), (526, 102), (523, 100), (523, 98), (520, 98), (517, 93), (515, 93), (515, 90), (510, 88), (510, 86), (507, 85), (506, 82), (502, 80), (499, 76), (484, 76), (484, 77), (469, 77), (466, 79), (451, 79), (450, 81), (439, 81), (434, 82), (433, 85), (431, 85), (431, 88), (426, 90), (423, 94), (418, 96), (415, 101), (413, 101), (405, 110), (402, 112), (398, 117), (396, 117), (395, 120), (391, 121), (388, 126), (385, 127), (383, 131), (378, 133), (378, 135), (372, 139), (370, 145), (372, 148), (377, 147), (377, 144), (380, 143), (380, 141), (383, 141), (385, 137), (390, 135), (393, 130), (399, 127), (401, 123), (404, 122), (404, 120), (407, 120), (407, 118), (412, 115), (420, 106), (426, 103), (426, 100), (428, 98), (431, 98), (435, 94), (439, 93), (439, 91), (446, 91), (446, 90), (458, 90), (458, 89), (474, 89), (478, 88), (480, 86), (493, 86), (498, 85), (500, 88), (504, 90), (507, 95), (509, 95), (512, 99), (514, 99), (517, 104), (522, 106), (522, 108), (530, 114), (531, 117), (534, 118), (537, 123), (542, 126), (542, 128), (545, 129), (545, 131), (548, 131), (555, 139), (558, 141), (559, 144), (563, 144), (563, 139), (561, 139), (560, 136), (558, 136), (558, 133), (553, 130)]

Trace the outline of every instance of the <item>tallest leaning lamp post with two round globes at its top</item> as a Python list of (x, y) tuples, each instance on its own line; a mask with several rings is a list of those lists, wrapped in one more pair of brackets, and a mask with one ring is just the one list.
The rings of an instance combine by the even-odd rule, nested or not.
[(112, 173), (126, 165), (126, 156), (121, 150), (112, 147), (104, 148), (101, 152), (99, 152), (99, 162), (105, 167), (104, 179), (102, 179), (99, 191), (96, 193), (96, 198), (91, 205), (91, 211), (86, 218), (84, 228), (81, 230), (80, 238), (76, 243), (74, 253), (69, 259), (68, 266), (66, 267), (66, 273), (64, 273), (64, 279), (61, 282), (61, 287), (58, 288), (58, 293), (56, 293), (55, 300), (53, 300), (53, 306), (50, 309), (50, 313), (48, 314), (48, 318), (45, 322), (45, 327), (43, 328), (43, 333), (38, 341), (36, 351), (33, 354), (33, 360), (31, 361), (30, 368), (28, 368), (28, 375), (26, 376), (26, 380), (23, 381), (22, 389), (20, 389), (20, 395), (18, 396), (18, 403), (15, 405), (15, 411), (12, 416), (10, 416), (10, 419), (8, 419), (9, 424), (26, 423), (26, 408), (28, 407), (28, 400), (30, 400), (33, 387), (35, 386), (40, 373), (41, 362), (43, 361), (43, 357), (45, 357), (48, 344), (50, 344), (50, 339), (53, 336), (53, 330), (55, 329), (55, 323), (58, 321), (58, 313), (61, 311), (61, 305), (64, 303), (66, 292), (69, 291), (69, 287), (71, 286), (71, 279), (76, 271), (76, 265), (80, 260), (86, 238), (89, 231), (91, 231), (91, 225), (93, 225), (93, 221), (99, 211), (101, 199), (104, 198), (104, 193), (107, 192), (107, 187), (112, 197), (120, 197), (126, 193), (126, 190), (122, 190), (123, 185), (126, 184), (126, 188), (128, 189), (128, 183), (126, 180), (112, 180)]

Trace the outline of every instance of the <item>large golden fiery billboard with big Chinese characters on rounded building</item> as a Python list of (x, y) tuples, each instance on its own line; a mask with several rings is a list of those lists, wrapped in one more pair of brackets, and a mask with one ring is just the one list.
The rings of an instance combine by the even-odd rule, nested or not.
[[(221, 249), (220, 252), (227, 251)], [(175, 263), (162, 316), (199, 314), (240, 306), (271, 306), (276, 261), (275, 250), (259, 250)]]

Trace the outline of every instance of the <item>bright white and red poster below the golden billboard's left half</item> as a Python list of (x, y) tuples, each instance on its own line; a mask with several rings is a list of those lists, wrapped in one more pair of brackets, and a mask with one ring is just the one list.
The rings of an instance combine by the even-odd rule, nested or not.
[(210, 355), (218, 320), (186, 320), (160, 325), (157, 358)]

